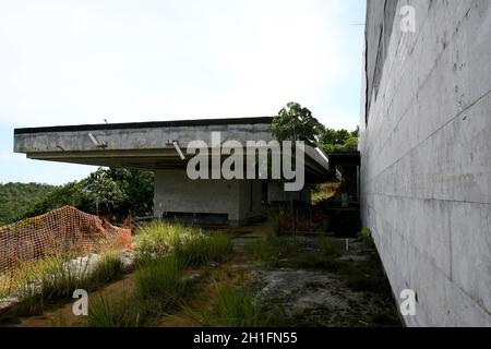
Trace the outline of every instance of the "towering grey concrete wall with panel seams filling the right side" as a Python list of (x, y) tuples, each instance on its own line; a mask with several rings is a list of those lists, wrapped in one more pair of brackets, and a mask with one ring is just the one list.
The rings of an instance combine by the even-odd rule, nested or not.
[[(392, 2), (360, 117), (363, 225), (394, 293), (417, 292), (407, 325), (491, 326), (491, 2)], [(369, 86), (384, 4), (368, 2)], [(400, 31), (407, 4), (416, 33)]]

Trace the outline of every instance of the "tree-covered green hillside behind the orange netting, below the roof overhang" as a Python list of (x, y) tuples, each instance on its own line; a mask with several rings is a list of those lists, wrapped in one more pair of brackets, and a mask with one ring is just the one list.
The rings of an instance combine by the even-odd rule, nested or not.
[(154, 174), (133, 169), (99, 168), (87, 178), (60, 186), (8, 183), (0, 185), (0, 225), (38, 216), (65, 205), (83, 212), (148, 216), (153, 210)]

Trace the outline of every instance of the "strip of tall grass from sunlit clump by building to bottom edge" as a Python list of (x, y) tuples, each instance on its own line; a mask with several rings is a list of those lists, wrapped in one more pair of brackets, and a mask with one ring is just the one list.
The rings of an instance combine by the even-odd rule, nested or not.
[[(100, 298), (89, 313), (89, 325), (142, 326), (183, 306), (193, 291), (187, 279), (189, 269), (221, 262), (232, 248), (228, 234), (207, 234), (200, 228), (158, 221), (139, 229), (135, 245), (134, 292), (122, 300)], [(128, 298), (136, 305), (128, 304)]]

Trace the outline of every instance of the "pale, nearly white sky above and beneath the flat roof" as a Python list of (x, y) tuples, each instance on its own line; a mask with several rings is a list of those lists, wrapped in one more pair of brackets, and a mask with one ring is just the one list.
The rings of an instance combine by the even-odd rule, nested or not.
[(94, 167), (13, 154), (13, 129), (277, 115), (359, 120), (364, 0), (0, 0), (0, 183)]

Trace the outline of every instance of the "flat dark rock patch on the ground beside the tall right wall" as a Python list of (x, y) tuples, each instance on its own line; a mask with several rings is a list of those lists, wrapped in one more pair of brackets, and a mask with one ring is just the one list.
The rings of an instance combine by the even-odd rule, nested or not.
[(369, 326), (391, 312), (391, 304), (378, 296), (355, 292), (325, 272), (265, 269), (259, 272), (255, 287), (264, 310), (279, 311), (287, 325)]

